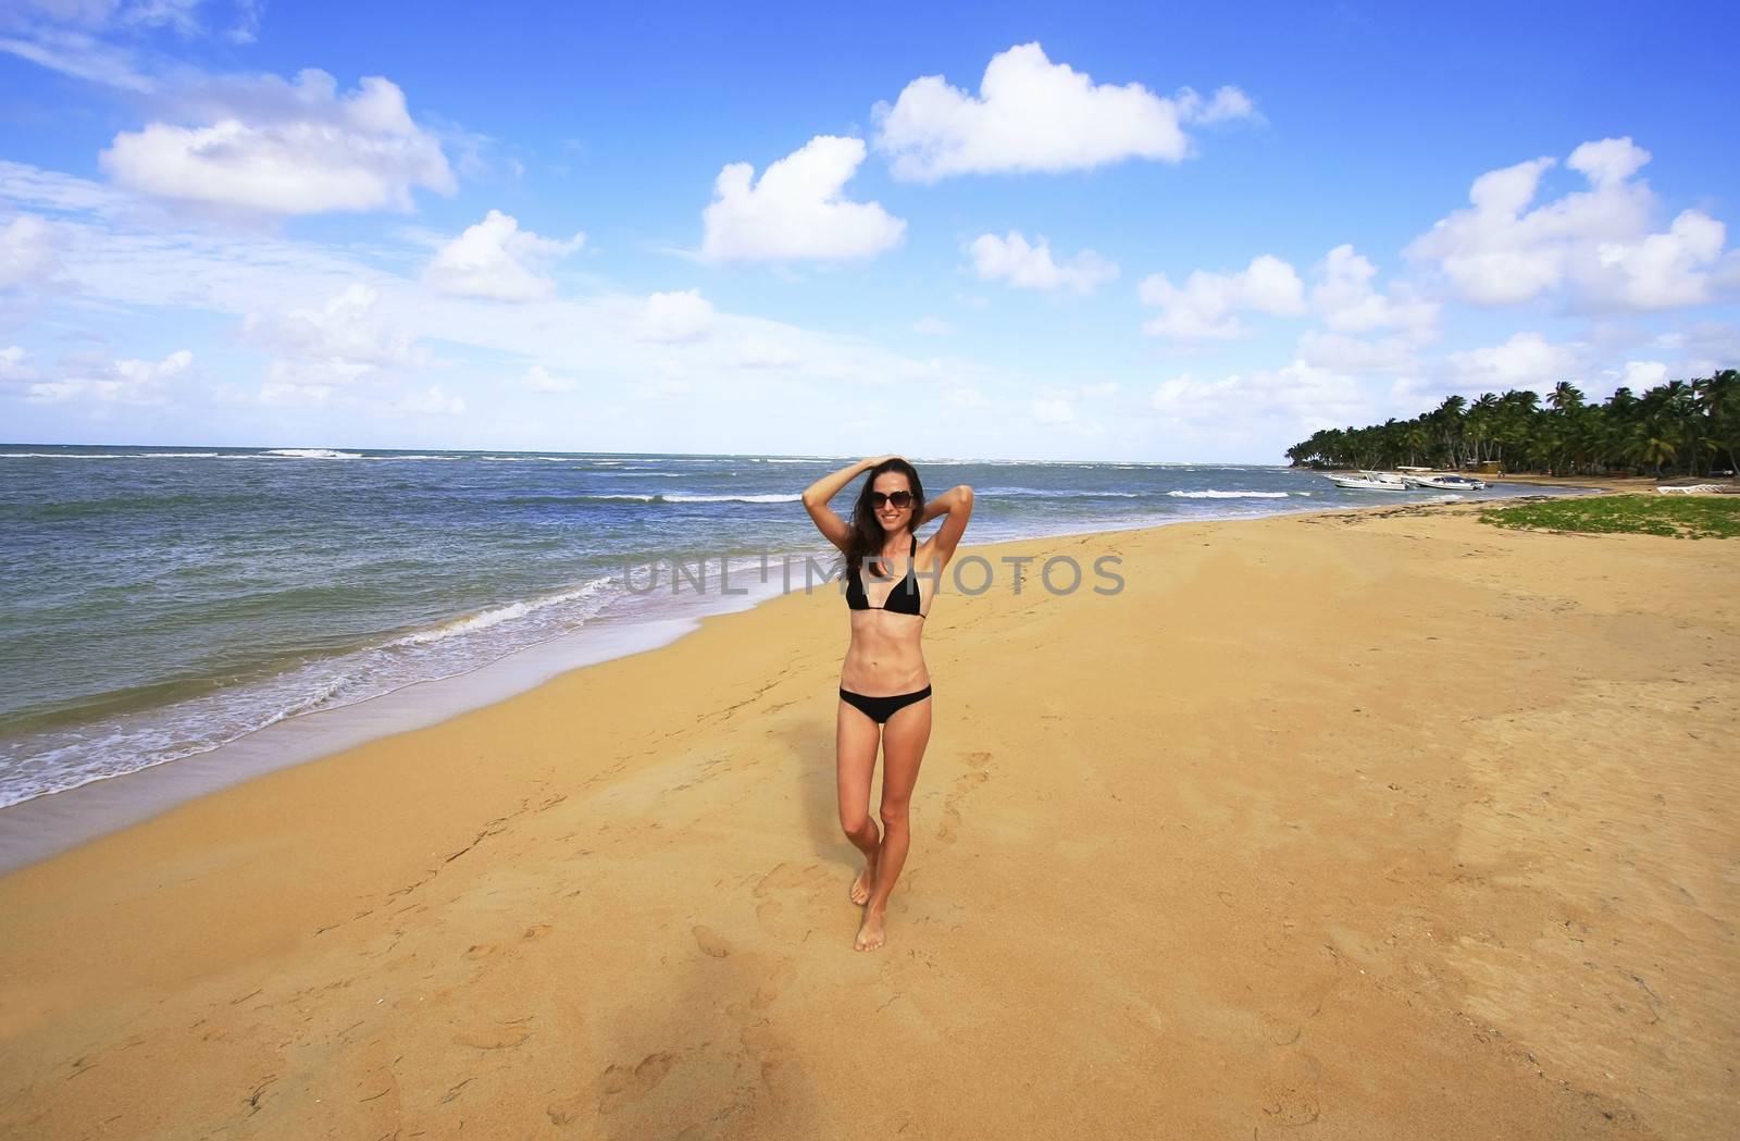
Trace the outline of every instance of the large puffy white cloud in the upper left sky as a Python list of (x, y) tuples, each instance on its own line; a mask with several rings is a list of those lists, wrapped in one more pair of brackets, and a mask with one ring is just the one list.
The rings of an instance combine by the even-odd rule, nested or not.
[(409, 210), (411, 190), (454, 191), (440, 143), (418, 127), (404, 92), (369, 77), (339, 97), (325, 71), (294, 83), (264, 77), (198, 127), (150, 123), (97, 157), (117, 183), (164, 198), (264, 214)]

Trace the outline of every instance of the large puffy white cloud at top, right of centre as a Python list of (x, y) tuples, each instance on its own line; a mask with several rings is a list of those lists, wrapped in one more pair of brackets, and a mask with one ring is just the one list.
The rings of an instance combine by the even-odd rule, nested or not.
[(1235, 87), (1204, 106), (1190, 89), (1176, 99), (1141, 83), (1094, 83), (1051, 63), (1039, 43), (992, 56), (980, 94), (941, 75), (907, 83), (893, 106), (875, 104), (877, 150), (898, 179), (931, 183), (955, 174), (1084, 170), (1126, 158), (1180, 162), (1190, 153), (1183, 122), (1251, 117)]

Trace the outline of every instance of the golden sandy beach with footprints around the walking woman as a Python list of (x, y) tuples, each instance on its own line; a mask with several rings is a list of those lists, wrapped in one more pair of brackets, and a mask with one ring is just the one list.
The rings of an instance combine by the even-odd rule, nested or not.
[(1476, 515), (964, 548), (875, 953), (832, 588), (10, 873), (0, 1136), (1731, 1136), (1740, 551)]

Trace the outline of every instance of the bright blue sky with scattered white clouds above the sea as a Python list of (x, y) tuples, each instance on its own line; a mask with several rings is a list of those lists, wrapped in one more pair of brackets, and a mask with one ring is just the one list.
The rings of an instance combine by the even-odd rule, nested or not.
[(1703, 376), (1735, 24), (14, 2), (0, 437), (1274, 463)]

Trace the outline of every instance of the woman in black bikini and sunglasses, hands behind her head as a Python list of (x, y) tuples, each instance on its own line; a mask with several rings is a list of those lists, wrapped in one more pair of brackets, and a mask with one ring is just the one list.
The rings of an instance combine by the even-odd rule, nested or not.
[[(863, 471), (870, 478), (853, 504), (853, 522), (846, 524), (828, 501)], [(865, 854), (865, 870), (849, 892), (853, 903), (865, 904), (853, 946), (873, 951), (886, 939), (882, 915), (912, 845), (912, 786), (931, 739), (931, 675), (919, 637), (943, 567), (954, 558), (973, 515), (973, 489), (962, 484), (927, 504), (912, 464), (884, 456), (860, 459), (811, 484), (804, 510), (846, 555), (853, 640), (840, 668), (835, 772), (840, 828)], [(938, 515), (947, 517), (943, 525), (919, 543), (919, 527)], [(870, 821), (877, 743), (882, 746), (880, 835)]]

